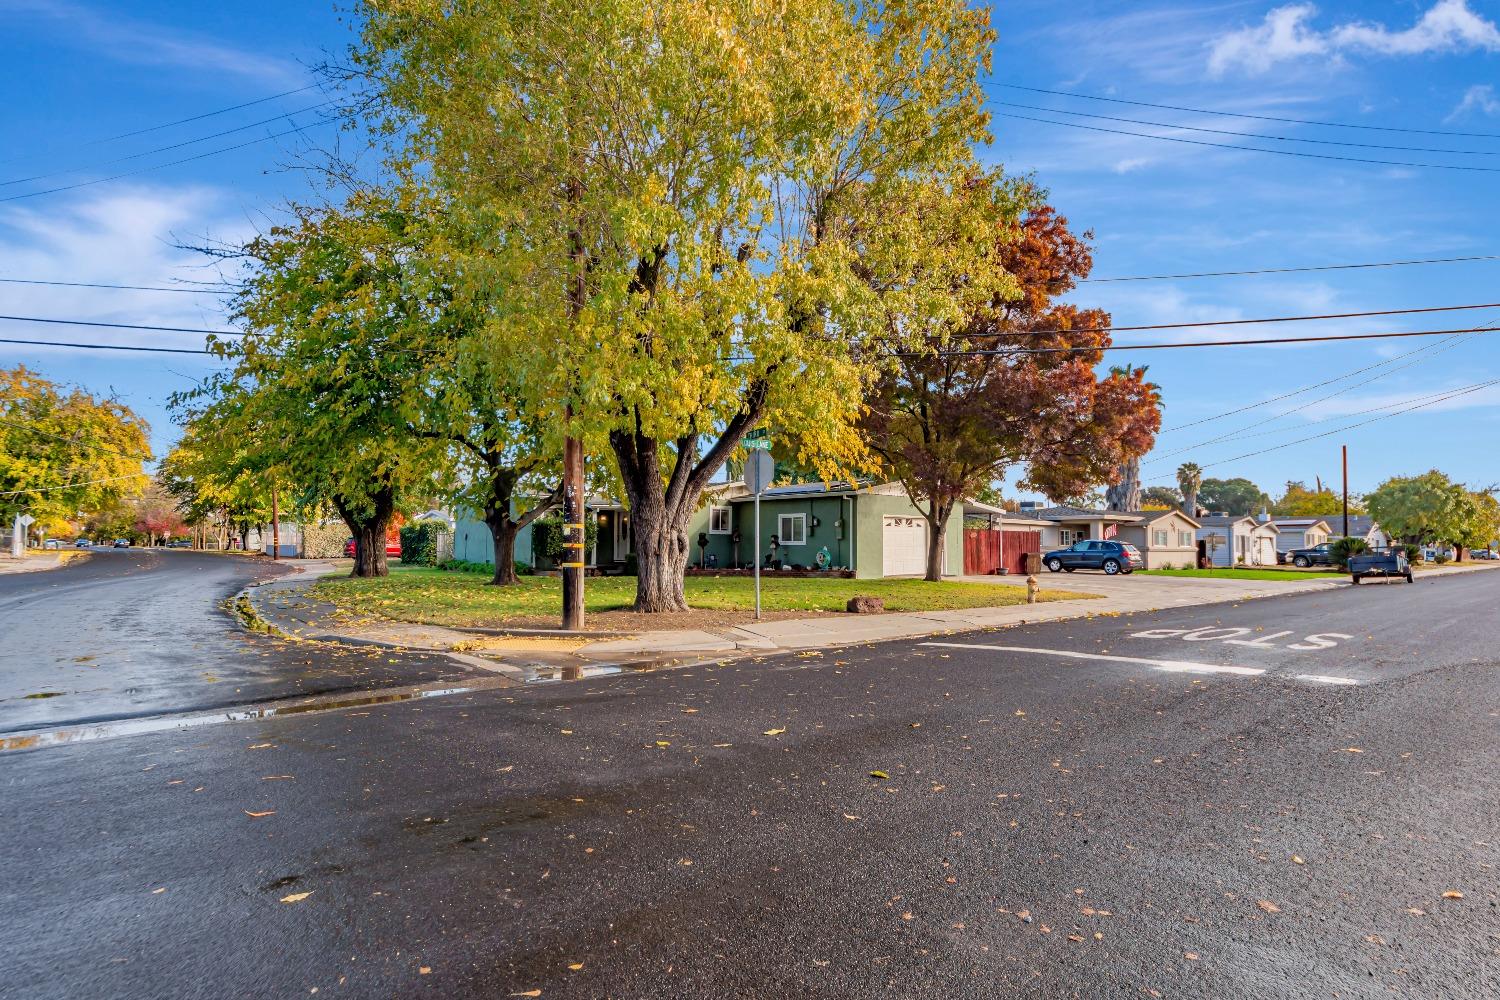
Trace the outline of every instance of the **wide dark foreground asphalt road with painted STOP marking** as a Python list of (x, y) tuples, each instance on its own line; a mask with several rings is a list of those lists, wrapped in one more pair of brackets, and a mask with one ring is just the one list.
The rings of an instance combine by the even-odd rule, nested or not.
[(4, 990), (1500, 996), (1497, 606), (1479, 573), (10, 754)]

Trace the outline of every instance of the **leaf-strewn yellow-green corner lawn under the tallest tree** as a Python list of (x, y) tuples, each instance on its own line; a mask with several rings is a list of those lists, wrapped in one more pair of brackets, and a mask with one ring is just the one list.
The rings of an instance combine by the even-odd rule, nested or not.
[[(478, 573), (448, 573), (417, 567), (392, 567), (384, 579), (326, 577), (314, 594), (354, 615), (376, 615), (429, 625), (506, 625), (518, 619), (555, 618), (562, 604), (562, 585), (555, 577), (520, 577), (516, 586), (488, 586)], [(748, 577), (687, 577), (687, 603), (694, 610), (746, 612), (754, 609), (754, 582)], [(584, 588), (585, 610), (628, 612), (636, 597), (636, 579), (590, 577)], [(927, 583), (926, 580), (842, 580), (762, 577), (760, 604), (768, 612), (842, 612), (850, 597), (879, 597), (886, 610), (928, 612), (956, 607), (1000, 607), (1023, 604), (1026, 588), (996, 583)], [(1088, 597), (1068, 591), (1042, 591), (1041, 600)], [(670, 622), (670, 616), (663, 622)]]

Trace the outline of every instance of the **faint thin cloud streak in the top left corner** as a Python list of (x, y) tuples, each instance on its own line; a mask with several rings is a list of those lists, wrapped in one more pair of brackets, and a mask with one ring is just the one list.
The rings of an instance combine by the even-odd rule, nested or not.
[(141, 66), (178, 66), (256, 79), (278, 87), (308, 82), (297, 63), (252, 52), (190, 31), (130, 21), (68, 0), (0, 0), (0, 13), (52, 21), (63, 36), (110, 58)]

